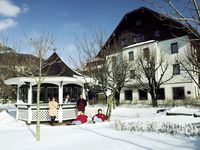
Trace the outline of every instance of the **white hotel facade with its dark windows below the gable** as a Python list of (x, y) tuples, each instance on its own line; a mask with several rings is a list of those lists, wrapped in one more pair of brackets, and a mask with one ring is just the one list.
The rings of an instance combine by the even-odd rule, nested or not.
[[(130, 64), (134, 64), (137, 56), (143, 53), (144, 49), (154, 51), (157, 54), (157, 61), (162, 56), (165, 57), (166, 63), (169, 63), (169, 68), (165, 73), (164, 78), (168, 78), (173, 74), (173, 77), (168, 82), (161, 85), (160, 99), (187, 99), (196, 98), (199, 96), (199, 89), (195, 82), (190, 78), (186, 71), (181, 69), (177, 59), (186, 59), (185, 53), (190, 48), (188, 36), (182, 36), (163, 41), (145, 41), (127, 46), (123, 50), (123, 56), (128, 59)], [(158, 70), (156, 76), (159, 78), (161, 71)], [(130, 69), (131, 74), (131, 69)], [(131, 75), (130, 75), (131, 76)], [(193, 74), (193, 77), (198, 80), (198, 75)], [(149, 93), (144, 92), (134, 86), (137, 84), (136, 79), (130, 79), (122, 88), (120, 100), (151, 100)]]

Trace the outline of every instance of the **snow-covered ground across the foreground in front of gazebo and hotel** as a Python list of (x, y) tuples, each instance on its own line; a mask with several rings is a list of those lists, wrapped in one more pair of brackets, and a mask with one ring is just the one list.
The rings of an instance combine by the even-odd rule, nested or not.
[[(158, 108), (118, 107), (113, 110), (111, 122), (83, 124), (78, 126), (41, 125), (41, 141), (35, 140), (35, 125), (27, 126), (13, 118), (12, 106), (0, 105), (7, 111), (0, 112), (0, 149), (1, 150), (199, 150), (200, 137), (158, 134), (153, 132), (119, 131), (113, 127), (116, 121), (171, 121), (180, 124), (198, 123), (200, 117), (165, 116), (157, 114)], [(86, 114), (92, 117), (98, 108), (87, 106)], [(174, 108), (173, 111), (180, 108)], [(185, 111), (198, 111), (186, 109)], [(193, 112), (192, 112), (193, 113)], [(11, 114), (11, 115), (10, 115)]]

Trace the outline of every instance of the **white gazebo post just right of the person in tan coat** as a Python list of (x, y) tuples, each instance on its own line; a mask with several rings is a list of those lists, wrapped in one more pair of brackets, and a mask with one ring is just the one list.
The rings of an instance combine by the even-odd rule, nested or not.
[(59, 109), (58, 109), (58, 122), (59, 123), (62, 123), (63, 122), (63, 82), (61, 81), (60, 82), (60, 85), (59, 85), (59, 90), (58, 90), (58, 95), (59, 95), (59, 98), (58, 98), (58, 103), (59, 103)]

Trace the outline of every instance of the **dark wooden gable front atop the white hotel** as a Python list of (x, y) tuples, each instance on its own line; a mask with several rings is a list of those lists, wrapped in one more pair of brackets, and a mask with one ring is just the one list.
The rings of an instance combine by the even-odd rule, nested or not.
[[(112, 46), (124, 33), (132, 34), (131, 38), (133, 42), (127, 43), (127, 45), (149, 40), (161, 41), (188, 34), (183, 24), (145, 7), (127, 13), (113, 31), (104, 47)], [(120, 42), (121, 44), (126, 44), (124, 41)]]

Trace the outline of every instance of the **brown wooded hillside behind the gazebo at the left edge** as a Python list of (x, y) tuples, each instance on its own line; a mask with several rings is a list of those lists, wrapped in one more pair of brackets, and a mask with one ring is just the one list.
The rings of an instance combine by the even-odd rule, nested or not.
[(7, 86), (3, 81), (10, 77), (20, 76), (24, 66), (35, 67), (37, 62), (37, 57), (30, 54), (20, 54), (14, 51), (0, 52), (0, 101), (5, 103), (8, 99), (16, 98), (16, 87)]

